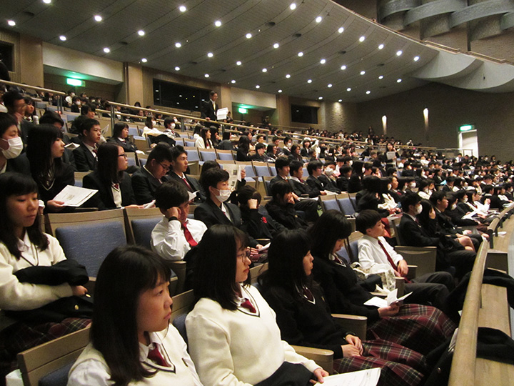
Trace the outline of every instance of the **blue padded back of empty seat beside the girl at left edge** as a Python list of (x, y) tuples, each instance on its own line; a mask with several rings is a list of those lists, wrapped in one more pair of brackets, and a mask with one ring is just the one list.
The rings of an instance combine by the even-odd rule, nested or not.
[(96, 277), (109, 252), (126, 245), (125, 229), (119, 222), (59, 227), (56, 229), (56, 238), (66, 258), (84, 265), (91, 277)]

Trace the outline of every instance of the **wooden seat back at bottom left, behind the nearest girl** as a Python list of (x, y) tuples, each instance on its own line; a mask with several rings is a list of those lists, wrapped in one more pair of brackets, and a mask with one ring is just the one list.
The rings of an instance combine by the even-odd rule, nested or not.
[(86, 327), (20, 352), (18, 365), (24, 385), (66, 385), (69, 369), (88, 343), (89, 327)]

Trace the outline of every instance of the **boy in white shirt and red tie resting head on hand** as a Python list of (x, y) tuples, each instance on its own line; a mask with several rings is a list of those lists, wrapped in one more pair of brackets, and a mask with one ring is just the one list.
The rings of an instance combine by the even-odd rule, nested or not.
[(151, 233), (151, 248), (166, 260), (182, 260), (200, 242), (207, 227), (201, 221), (188, 219), (191, 199), (183, 184), (164, 182), (155, 193), (161, 219)]

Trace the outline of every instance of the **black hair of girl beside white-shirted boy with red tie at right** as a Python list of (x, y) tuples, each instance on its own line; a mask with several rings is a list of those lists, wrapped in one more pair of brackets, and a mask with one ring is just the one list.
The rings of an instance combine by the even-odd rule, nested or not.
[(328, 260), (338, 239), (347, 239), (351, 232), (351, 224), (344, 214), (335, 209), (326, 211), (309, 229), (313, 256)]

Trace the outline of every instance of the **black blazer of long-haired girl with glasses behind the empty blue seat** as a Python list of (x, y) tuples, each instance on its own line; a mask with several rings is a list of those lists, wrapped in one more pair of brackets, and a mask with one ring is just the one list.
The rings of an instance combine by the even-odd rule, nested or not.
[[(112, 195), (111, 184), (106, 185), (100, 178), (99, 172), (95, 171), (84, 176), (82, 186), (88, 189), (97, 189), (98, 192), (91, 197), (83, 206), (98, 208), (99, 210), (116, 209), (114, 197)], [(136, 204), (132, 190), (131, 177), (124, 172), (124, 177), (120, 182), (121, 206), (127, 207)]]

